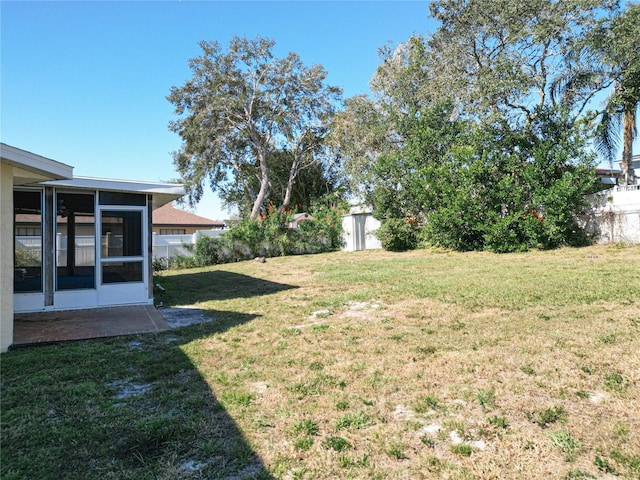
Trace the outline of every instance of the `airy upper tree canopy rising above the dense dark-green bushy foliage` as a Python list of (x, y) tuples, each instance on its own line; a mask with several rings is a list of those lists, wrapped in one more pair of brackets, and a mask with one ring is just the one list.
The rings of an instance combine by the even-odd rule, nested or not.
[(402, 124), (442, 102), (451, 119), (506, 120), (516, 129), (528, 128), (543, 107), (562, 105), (570, 123), (579, 121), (606, 79), (563, 98), (553, 95), (553, 85), (578, 66), (567, 52), (615, 7), (611, 0), (432, 2), (440, 27), (430, 37), (383, 47), (372, 95), (348, 99), (336, 117), (332, 141), (352, 189), (367, 197), (375, 160), (404, 148)]

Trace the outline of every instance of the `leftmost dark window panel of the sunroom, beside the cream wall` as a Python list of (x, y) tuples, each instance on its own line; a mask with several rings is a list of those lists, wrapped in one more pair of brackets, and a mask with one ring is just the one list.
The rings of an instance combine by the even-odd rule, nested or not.
[(42, 192), (13, 192), (13, 291), (42, 292)]

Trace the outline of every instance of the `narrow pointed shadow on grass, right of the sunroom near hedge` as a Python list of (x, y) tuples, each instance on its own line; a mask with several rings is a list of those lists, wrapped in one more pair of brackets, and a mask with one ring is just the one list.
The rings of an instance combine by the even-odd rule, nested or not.
[(166, 305), (249, 298), (298, 288), (224, 270), (171, 275), (157, 279), (157, 283), (164, 288)]

